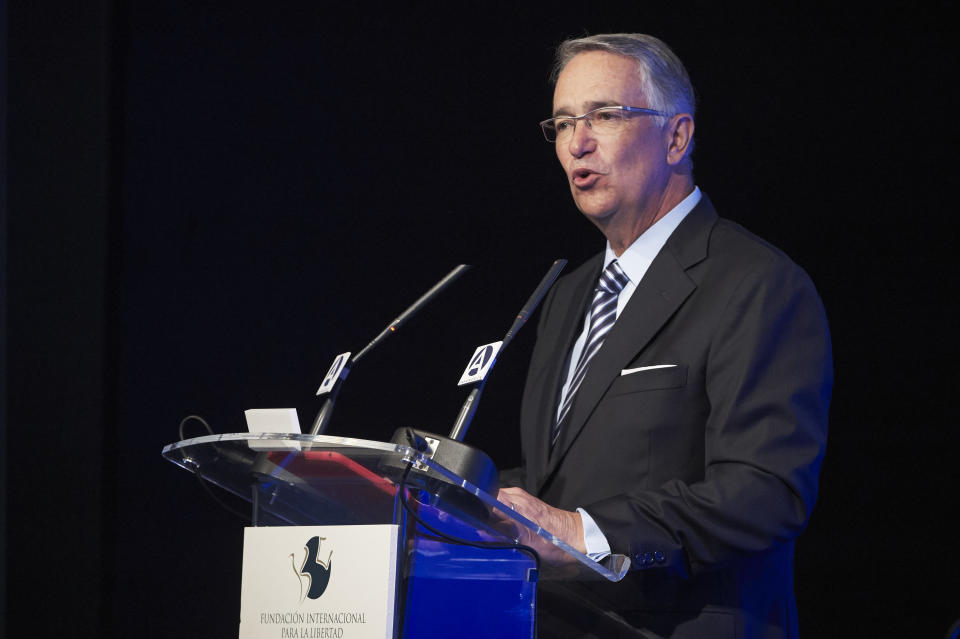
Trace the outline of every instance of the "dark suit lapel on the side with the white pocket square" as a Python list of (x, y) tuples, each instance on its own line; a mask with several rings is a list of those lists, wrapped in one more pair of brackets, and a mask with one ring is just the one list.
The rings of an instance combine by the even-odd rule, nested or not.
[[(707, 242), (716, 217), (713, 206), (704, 195), (650, 265), (604, 339), (603, 346), (590, 361), (560, 439), (549, 457), (546, 472), (540, 475), (544, 481), (556, 470), (620, 371), (650, 343), (696, 289), (686, 269), (706, 257)], [(542, 483), (538, 489), (541, 486)]]

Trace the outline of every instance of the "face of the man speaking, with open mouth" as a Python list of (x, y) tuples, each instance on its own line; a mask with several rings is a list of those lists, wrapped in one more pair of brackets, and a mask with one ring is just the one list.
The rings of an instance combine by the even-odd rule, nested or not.
[[(649, 107), (637, 64), (630, 58), (587, 51), (557, 79), (553, 114), (580, 115), (601, 106)], [(615, 134), (597, 134), (578, 121), (573, 136), (556, 143), (577, 208), (604, 230), (635, 227), (657, 215), (666, 188), (667, 140), (656, 120), (631, 117)]]

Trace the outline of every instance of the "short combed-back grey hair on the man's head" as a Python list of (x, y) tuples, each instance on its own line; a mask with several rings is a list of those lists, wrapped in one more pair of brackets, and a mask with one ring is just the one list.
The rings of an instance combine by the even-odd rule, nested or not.
[(668, 116), (677, 113), (694, 115), (695, 98), (690, 76), (680, 58), (662, 40), (643, 33), (604, 33), (566, 40), (557, 47), (550, 82), (556, 85), (567, 63), (586, 51), (606, 51), (636, 60), (643, 94), (650, 108)]

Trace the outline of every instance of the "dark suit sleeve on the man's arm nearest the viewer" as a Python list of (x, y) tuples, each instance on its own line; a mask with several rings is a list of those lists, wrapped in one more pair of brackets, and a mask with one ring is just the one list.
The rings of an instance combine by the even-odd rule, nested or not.
[[(781, 265), (782, 266), (782, 265)], [(830, 338), (796, 266), (755, 269), (717, 317), (704, 367), (704, 472), (583, 507), (638, 569), (681, 575), (795, 538), (817, 492), (832, 387)]]

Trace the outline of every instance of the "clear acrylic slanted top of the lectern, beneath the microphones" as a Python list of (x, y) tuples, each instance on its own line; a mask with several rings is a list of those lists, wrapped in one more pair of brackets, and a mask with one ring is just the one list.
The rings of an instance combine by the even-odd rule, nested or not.
[[(619, 581), (629, 560), (606, 564), (407, 446), (285, 433), (207, 435), (169, 444), (163, 456), (244, 499), (268, 525), (397, 523), (400, 491), (429, 524), (461, 539), (533, 546), (544, 576)], [(552, 566), (552, 568), (551, 568)]]

